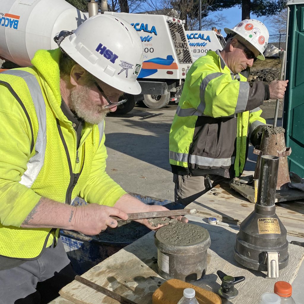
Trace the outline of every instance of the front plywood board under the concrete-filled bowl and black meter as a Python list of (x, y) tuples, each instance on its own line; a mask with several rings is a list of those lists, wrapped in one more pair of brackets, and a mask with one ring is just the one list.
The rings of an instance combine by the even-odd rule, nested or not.
[[(203, 223), (199, 217), (189, 216), (189, 218), (198, 220), (199, 222), (194, 223), (206, 228), (211, 238), (206, 275), (194, 282), (194, 285), (217, 292), (220, 287), (217, 270), (232, 276), (244, 275), (246, 279), (237, 285), (239, 295), (233, 303), (256, 304), (262, 293), (273, 291), (276, 281), (284, 280), (292, 283), (294, 280), (304, 257), (303, 247), (290, 244), (288, 267), (279, 271), (278, 279), (270, 280), (265, 278), (265, 273), (243, 268), (234, 260), (233, 247), (238, 232), (236, 228), (209, 225)], [(82, 276), (138, 304), (151, 304), (153, 292), (165, 281), (157, 274), (155, 257), (157, 257), (157, 248), (154, 245), (154, 232), (150, 232)], [(76, 281), (62, 288), (60, 295), (76, 304), (118, 303)], [(222, 303), (232, 302), (223, 299)]]

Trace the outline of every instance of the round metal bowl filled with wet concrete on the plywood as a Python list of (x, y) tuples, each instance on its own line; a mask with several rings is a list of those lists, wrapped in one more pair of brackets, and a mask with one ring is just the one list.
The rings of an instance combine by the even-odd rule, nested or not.
[(161, 227), (155, 234), (159, 274), (185, 282), (202, 278), (210, 244), (209, 233), (201, 226), (178, 223)]

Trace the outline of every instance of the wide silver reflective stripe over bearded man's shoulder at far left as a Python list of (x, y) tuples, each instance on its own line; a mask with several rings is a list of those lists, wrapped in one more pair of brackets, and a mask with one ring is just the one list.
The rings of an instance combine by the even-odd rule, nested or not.
[(33, 155), (33, 157), (31, 157), (28, 163), (26, 164), (27, 169), (21, 176), (21, 181), (19, 182), (20, 184), (30, 188), (33, 185), (33, 182), (36, 180), (43, 166), (45, 150), (47, 147), (47, 115), (45, 109), (45, 102), (40, 85), (33, 74), (20, 70), (8, 70), (2, 72), (2, 74), (9, 74), (23, 78), (29, 88), (29, 93), (31, 95), (36, 110), (39, 127), (36, 138), (36, 144), (34, 147), (35, 155)]

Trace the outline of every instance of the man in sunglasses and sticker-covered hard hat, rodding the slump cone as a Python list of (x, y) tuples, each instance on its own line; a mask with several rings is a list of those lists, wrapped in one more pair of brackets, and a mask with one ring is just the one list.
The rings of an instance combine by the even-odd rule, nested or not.
[(169, 138), (175, 200), (193, 202), (224, 178), (244, 170), (248, 141), (261, 140), (259, 106), (283, 98), (287, 81), (249, 85), (249, 69), (264, 60), (269, 33), (258, 20), (225, 28), (222, 51), (208, 51), (189, 69)]

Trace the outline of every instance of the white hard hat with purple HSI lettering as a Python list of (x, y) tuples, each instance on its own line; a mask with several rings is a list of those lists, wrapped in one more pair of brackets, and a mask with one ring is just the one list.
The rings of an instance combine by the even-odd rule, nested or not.
[(139, 35), (125, 20), (111, 15), (92, 16), (59, 45), (96, 78), (120, 91), (140, 94), (136, 78), (143, 62), (143, 47)]

